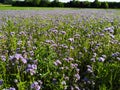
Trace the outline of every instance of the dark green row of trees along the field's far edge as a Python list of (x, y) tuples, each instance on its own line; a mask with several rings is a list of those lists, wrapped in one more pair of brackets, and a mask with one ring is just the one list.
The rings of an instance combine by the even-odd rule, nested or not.
[(0, 3), (12, 4), (12, 6), (32, 6), (32, 7), (74, 7), (74, 8), (120, 8), (120, 2), (94, 2), (72, 0), (66, 3), (59, 0), (0, 0)]

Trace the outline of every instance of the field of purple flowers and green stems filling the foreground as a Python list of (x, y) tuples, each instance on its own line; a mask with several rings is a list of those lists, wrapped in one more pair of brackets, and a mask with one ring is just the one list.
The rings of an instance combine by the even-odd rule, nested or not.
[(0, 90), (120, 90), (120, 11), (0, 11)]

